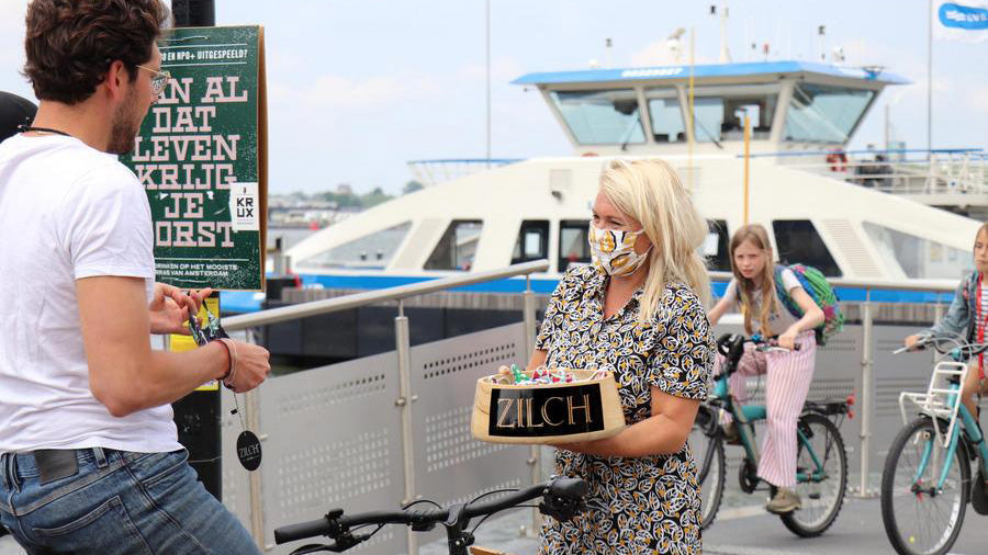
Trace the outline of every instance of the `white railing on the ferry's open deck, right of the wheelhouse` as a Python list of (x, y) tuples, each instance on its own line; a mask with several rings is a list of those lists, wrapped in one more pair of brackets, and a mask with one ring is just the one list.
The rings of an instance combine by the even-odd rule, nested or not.
[(753, 157), (773, 157), (787, 167), (886, 193), (916, 195), (917, 200), (929, 204), (943, 204), (951, 200), (964, 204), (988, 204), (985, 199), (980, 202), (970, 202), (969, 199), (988, 193), (988, 154), (979, 148), (823, 150), (759, 154)]

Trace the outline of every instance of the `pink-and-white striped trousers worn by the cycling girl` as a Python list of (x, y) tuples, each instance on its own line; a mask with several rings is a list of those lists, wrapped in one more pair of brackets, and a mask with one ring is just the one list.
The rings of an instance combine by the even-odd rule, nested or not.
[[(798, 351), (762, 352), (753, 344), (745, 344), (738, 371), (730, 377), (731, 395), (742, 404), (748, 399), (748, 377), (767, 374), (765, 380), (765, 408), (767, 422), (762, 442), (759, 477), (777, 486), (796, 485), (796, 420), (802, 412), (802, 404), (813, 380), (817, 356), (817, 339), (812, 330), (796, 338)], [(723, 356), (717, 355), (718, 366)], [(730, 416), (727, 420), (730, 420)]]

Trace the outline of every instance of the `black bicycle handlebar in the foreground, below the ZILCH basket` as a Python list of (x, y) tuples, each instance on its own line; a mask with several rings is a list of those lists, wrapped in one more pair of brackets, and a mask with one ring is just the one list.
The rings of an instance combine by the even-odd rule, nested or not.
[[(554, 496), (569, 500), (581, 499), (586, 495), (586, 482), (581, 478), (557, 477), (542, 484), (519, 489), (493, 501), (452, 506), (444, 509), (400, 509), (392, 511), (371, 511), (344, 516), (343, 509), (334, 509), (318, 520), (289, 524), (274, 530), (274, 543), (283, 544), (317, 535), (337, 539), (352, 526), (366, 524), (407, 524), (427, 526), (436, 523), (451, 523), (450, 513), (469, 521), (474, 517), (493, 514), (505, 509), (530, 501), (542, 496)], [(461, 509), (461, 510), (457, 510)]]

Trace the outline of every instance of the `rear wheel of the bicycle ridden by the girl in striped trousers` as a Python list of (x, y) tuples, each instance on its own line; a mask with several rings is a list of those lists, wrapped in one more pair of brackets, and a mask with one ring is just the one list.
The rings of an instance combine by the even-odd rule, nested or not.
[(796, 448), (796, 492), (802, 508), (781, 514), (783, 524), (794, 534), (812, 537), (833, 524), (847, 491), (847, 454), (837, 426), (813, 412), (799, 418), (805, 441)]

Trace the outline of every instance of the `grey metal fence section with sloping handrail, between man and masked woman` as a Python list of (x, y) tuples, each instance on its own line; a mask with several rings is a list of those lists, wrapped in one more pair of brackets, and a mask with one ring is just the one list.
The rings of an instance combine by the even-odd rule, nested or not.
[[(224, 503), (250, 523), (258, 544), (288, 553), (273, 545), (272, 531), (318, 518), (335, 506), (347, 511), (396, 508), (422, 495), (439, 502), (468, 501), (538, 479), (536, 450), (478, 442), (469, 430), (476, 380), (499, 364), (524, 364), (531, 353), (531, 288), (523, 293), (523, 321), (414, 348), (403, 299), (527, 276), (548, 267), (544, 260), (527, 262), (227, 318), (224, 326), (235, 332), (398, 302), (393, 352), (279, 376), (243, 396), (240, 410), (261, 439), (265, 464), (247, 476), (226, 465)], [(223, 457), (231, 461), (240, 424), (229, 415), (229, 395), (223, 404)], [(382, 530), (355, 553), (417, 554), (418, 536)]]

